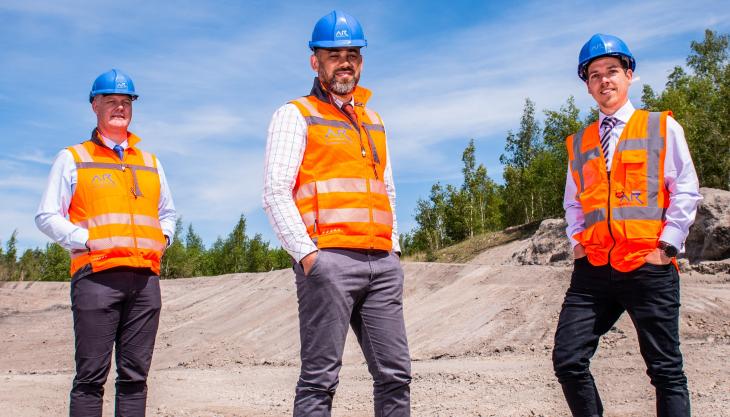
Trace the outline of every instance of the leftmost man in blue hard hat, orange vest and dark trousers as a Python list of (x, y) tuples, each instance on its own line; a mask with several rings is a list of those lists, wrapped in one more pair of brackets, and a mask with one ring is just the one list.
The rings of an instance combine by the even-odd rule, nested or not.
[(160, 161), (127, 129), (132, 79), (112, 69), (91, 87), (91, 137), (62, 150), (36, 214), (71, 252), (76, 375), (71, 417), (101, 417), (116, 350), (115, 415), (145, 415), (147, 374), (160, 319), (160, 258), (176, 211)]

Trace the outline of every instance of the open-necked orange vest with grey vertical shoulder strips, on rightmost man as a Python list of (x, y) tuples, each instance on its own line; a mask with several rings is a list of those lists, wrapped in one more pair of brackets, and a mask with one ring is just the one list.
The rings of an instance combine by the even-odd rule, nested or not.
[[(667, 116), (636, 110), (616, 144), (610, 178), (598, 122), (567, 139), (585, 230), (573, 236), (592, 265), (633, 271), (657, 248), (669, 206), (664, 185)], [(676, 265), (676, 260), (675, 260)]]

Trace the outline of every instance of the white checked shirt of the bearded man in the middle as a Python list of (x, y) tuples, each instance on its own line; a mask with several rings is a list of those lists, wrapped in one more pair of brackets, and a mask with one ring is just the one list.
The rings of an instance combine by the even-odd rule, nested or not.
[[(263, 206), (282, 247), (297, 262), (317, 250), (317, 245), (309, 237), (292, 195), (306, 145), (307, 122), (304, 116), (291, 103), (281, 106), (269, 124), (264, 159)], [(398, 223), (395, 218), (395, 185), (387, 144), (386, 153), (383, 181), (393, 212), (391, 238), (393, 251), (400, 252)]]

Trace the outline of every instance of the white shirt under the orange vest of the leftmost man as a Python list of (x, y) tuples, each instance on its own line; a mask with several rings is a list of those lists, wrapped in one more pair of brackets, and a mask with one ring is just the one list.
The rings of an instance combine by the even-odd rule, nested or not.
[[(116, 143), (103, 136), (101, 140), (105, 146), (114, 149)], [(129, 144), (125, 140), (120, 146), (126, 150)], [(157, 158), (155, 157), (155, 159)], [(169, 245), (175, 234), (177, 212), (165, 178), (165, 171), (162, 169), (159, 159), (157, 159), (157, 173), (160, 176), (160, 226), (162, 233), (168, 238)], [(73, 154), (68, 149), (63, 149), (53, 161), (51, 173), (48, 175), (48, 184), (35, 215), (35, 224), (38, 229), (68, 250), (85, 250), (86, 241), (89, 240), (88, 230), (68, 220), (68, 208), (71, 205), (77, 181), (76, 162)]]

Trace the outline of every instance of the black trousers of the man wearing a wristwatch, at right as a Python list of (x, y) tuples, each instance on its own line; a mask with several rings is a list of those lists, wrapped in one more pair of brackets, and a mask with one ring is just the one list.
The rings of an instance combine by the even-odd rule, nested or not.
[(555, 332), (553, 367), (573, 416), (602, 416), (589, 369), (598, 339), (626, 311), (656, 389), (660, 417), (690, 415), (687, 378), (679, 351), (679, 274), (673, 265), (645, 264), (622, 273), (575, 261)]

